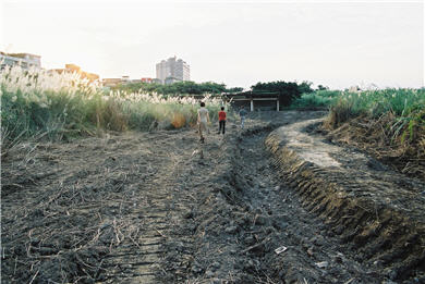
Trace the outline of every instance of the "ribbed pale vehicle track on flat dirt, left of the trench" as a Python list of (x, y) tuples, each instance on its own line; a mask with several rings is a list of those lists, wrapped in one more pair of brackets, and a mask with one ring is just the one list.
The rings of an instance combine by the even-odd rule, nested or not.
[[(173, 139), (163, 139), (158, 147), (151, 146), (151, 155), (161, 155), (163, 149), (178, 147)], [(179, 178), (181, 159), (182, 155), (174, 152), (162, 156), (155, 164), (154, 176), (144, 183), (135, 181), (136, 206), (125, 214), (125, 220), (137, 229), (108, 255), (104, 283), (158, 283), (170, 220), (180, 211), (170, 192)]]

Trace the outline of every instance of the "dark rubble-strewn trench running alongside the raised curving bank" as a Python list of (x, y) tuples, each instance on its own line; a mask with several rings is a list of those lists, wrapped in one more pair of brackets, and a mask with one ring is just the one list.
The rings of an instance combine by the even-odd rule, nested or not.
[[(278, 125), (248, 128), (227, 143), (226, 170), (206, 182), (212, 190), (165, 245), (171, 283), (381, 283), (368, 263), (355, 259), (339, 236), (307, 210), (279, 175), (265, 147)], [(185, 248), (191, 256), (177, 251)], [(170, 252), (171, 251), (171, 252)], [(181, 256), (181, 257), (180, 257)], [(184, 261), (181, 261), (184, 260)], [(179, 271), (177, 279), (175, 271)], [(163, 276), (163, 275), (162, 275)]]

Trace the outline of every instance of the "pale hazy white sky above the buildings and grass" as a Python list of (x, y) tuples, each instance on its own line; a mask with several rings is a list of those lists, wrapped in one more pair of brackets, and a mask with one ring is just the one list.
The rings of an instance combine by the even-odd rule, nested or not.
[(248, 88), (313, 82), (424, 86), (424, 1), (0, 0), (0, 51), (155, 77), (177, 55), (191, 79)]

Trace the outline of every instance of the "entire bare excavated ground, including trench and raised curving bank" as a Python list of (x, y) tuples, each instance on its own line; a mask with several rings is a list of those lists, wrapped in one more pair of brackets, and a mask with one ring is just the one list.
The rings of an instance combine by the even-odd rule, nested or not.
[[(23, 144), (2, 159), (2, 283), (425, 283), (425, 185), (325, 112)], [(214, 131), (212, 131), (214, 128)]]

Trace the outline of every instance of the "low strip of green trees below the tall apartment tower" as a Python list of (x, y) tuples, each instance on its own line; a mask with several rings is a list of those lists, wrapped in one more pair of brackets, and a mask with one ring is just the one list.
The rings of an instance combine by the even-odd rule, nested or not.
[(149, 84), (149, 83), (129, 83), (120, 84), (112, 88), (113, 90), (130, 91), (130, 92), (145, 92), (145, 94), (160, 94), (160, 95), (203, 95), (203, 94), (222, 94), (222, 92), (238, 92), (243, 88), (227, 88), (224, 84), (217, 84), (214, 82), (206, 82), (197, 84), (195, 82), (177, 82), (170, 85)]

